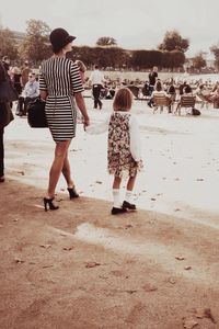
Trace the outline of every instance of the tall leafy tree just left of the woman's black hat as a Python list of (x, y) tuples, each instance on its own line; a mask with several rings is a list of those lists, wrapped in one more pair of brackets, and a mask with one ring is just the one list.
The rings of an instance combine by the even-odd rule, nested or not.
[(23, 59), (42, 61), (51, 55), (49, 46), (49, 26), (37, 20), (27, 21), (26, 37), (20, 45), (20, 57)]

